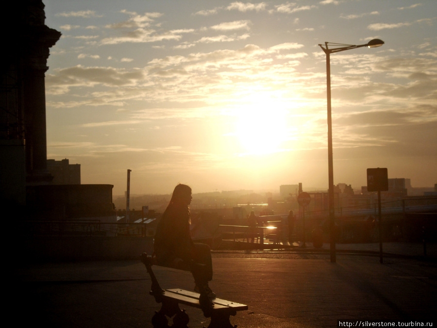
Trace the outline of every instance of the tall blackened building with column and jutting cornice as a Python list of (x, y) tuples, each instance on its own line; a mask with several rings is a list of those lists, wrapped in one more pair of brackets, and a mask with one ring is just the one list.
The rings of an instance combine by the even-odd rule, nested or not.
[(52, 179), (44, 78), (49, 49), (61, 33), (45, 25), (41, 0), (10, 1), (0, 13), (0, 196), (24, 204), (25, 185)]

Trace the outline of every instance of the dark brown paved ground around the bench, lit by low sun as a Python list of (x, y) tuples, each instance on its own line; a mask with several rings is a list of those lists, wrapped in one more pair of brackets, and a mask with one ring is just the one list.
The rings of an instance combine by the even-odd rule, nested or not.
[[(336, 263), (329, 252), (308, 246), (213, 254), (212, 289), (249, 306), (231, 318), (233, 325), (336, 327), (337, 320), (388, 320), (411, 327), (436, 317), (437, 245), (428, 245), (423, 258), (420, 244), (385, 244), (390, 254), (383, 264), (379, 244), (338, 244)], [(194, 287), (189, 273), (154, 270), (164, 288)], [(139, 260), (23, 263), (12, 272), (13, 277), (2, 273), (1, 295), (8, 303), (2, 321), (12, 318), (14, 326), (144, 328), (160, 308), (148, 294), (150, 279)], [(208, 326), (201, 311), (187, 313), (190, 327)]]

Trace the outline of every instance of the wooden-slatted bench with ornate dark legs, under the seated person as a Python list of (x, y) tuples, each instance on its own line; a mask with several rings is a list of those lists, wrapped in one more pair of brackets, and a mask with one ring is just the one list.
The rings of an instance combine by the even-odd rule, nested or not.
[[(231, 325), (230, 316), (236, 315), (237, 311), (247, 310), (248, 306), (224, 299), (215, 298), (213, 307), (204, 307), (199, 302), (199, 293), (185, 291), (183, 289), (164, 290), (159, 285), (152, 265), (156, 265), (151, 256), (146, 253), (141, 255), (141, 261), (146, 266), (147, 272), (151, 278), (150, 294), (155, 298), (157, 303), (162, 303), (161, 309), (155, 311), (152, 317), (152, 325), (155, 328), (185, 328), (188, 327), (189, 317), (185, 310), (179, 308), (179, 304), (201, 309), (206, 318), (211, 318), (208, 328), (235, 328)], [(173, 325), (168, 326), (167, 317), (173, 317)]]

